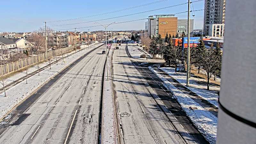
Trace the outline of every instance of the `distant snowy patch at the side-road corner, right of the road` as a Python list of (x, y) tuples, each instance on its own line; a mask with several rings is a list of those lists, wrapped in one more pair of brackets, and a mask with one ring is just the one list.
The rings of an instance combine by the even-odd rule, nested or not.
[[(138, 49), (140, 49), (140, 50), (138, 50)], [(140, 48), (140, 47), (138, 47), (136, 45), (129, 45), (128, 46), (128, 52), (130, 53), (132, 58), (147, 60), (147, 58), (140, 58), (141, 54), (146, 54), (147, 52), (145, 53), (145, 51), (142, 48)], [(146, 54), (146, 56), (147, 55), (149, 57), (152, 57), (152, 55), (150, 55), (148, 53)]]

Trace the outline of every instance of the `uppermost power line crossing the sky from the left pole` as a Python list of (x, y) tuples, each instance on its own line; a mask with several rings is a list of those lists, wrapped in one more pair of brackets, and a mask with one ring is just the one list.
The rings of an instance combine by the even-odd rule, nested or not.
[(84, 19), (84, 18), (89, 18), (89, 17), (95, 17), (95, 16), (100, 16), (100, 15), (105, 15), (105, 14), (110, 14), (110, 13), (130, 10), (130, 9), (134, 9), (134, 8), (138, 8), (138, 7), (142, 7), (142, 6), (147, 6), (147, 5), (150, 5), (150, 4), (156, 4), (156, 3), (160, 3), (160, 2), (164, 2), (164, 1), (167, 1), (167, 0), (160, 0), (160, 1), (152, 2), (152, 3), (148, 3), (148, 4), (142, 4), (142, 5), (138, 5), (138, 6), (134, 6), (134, 7), (130, 7), (130, 8), (125, 8), (125, 9), (121, 9), (121, 10), (117, 10), (117, 11), (112, 11), (112, 12), (105, 12), (105, 13), (101, 13), (101, 14), (95, 14), (95, 15), (86, 16), (86, 17), (80, 17), (80, 18), (74, 18), (74, 19), (66, 19), (66, 20), (54, 20), (54, 21), (46, 21), (46, 22), (60, 22), (60, 21)]

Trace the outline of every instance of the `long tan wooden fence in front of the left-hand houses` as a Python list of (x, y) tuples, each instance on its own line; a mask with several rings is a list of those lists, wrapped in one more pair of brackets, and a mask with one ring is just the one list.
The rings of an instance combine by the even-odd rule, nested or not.
[[(74, 49), (74, 46), (65, 47), (58, 50), (53, 50), (50, 52), (47, 52), (47, 59), (52, 58), (55, 55), (60, 55), (62, 53), (71, 51)], [(5, 76), (7, 74), (10, 74), (12, 72), (18, 71), (22, 68), (26, 68), (28, 66), (31, 66), (33, 64), (36, 64), (38, 62), (46, 60), (46, 53), (38, 54), (33, 57), (29, 57), (26, 59), (18, 60), (15, 62), (7, 63), (5, 65), (0, 66), (0, 76)]]

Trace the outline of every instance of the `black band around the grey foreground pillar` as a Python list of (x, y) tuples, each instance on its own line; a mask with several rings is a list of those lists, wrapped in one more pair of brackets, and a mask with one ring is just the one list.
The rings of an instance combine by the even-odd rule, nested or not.
[(244, 123), (244, 124), (247, 124), (251, 127), (254, 127), (256, 128), (256, 123), (252, 122), (252, 121), (249, 121), (247, 119), (244, 119), (243, 117), (241, 116), (237, 116), (236, 114), (232, 113), (231, 111), (229, 111), (227, 108), (225, 108), (221, 103), (220, 103), (220, 100), (219, 100), (219, 107), (221, 110), (223, 110), (227, 115), (233, 117), (234, 119)]

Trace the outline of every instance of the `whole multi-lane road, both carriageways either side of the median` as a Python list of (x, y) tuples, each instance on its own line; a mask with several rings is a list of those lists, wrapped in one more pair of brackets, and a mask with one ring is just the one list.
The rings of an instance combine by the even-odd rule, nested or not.
[[(85, 53), (15, 108), (0, 123), (0, 143), (100, 143), (100, 132), (108, 131), (100, 129), (102, 50), (105, 45)], [(109, 60), (117, 130), (112, 128), (120, 144), (207, 143), (148, 70), (155, 60), (130, 58), (126, 44)]]

